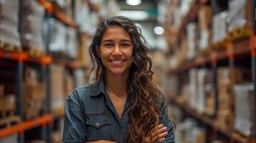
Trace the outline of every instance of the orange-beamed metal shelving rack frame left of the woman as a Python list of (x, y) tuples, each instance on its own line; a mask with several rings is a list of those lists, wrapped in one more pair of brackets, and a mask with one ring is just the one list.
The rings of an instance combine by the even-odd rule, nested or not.
[[(63, 24), (73, 27), (77, 29), (77, 24), (75, 24), (74, 21), (69, 19), (63, 12), (62, 9), (58, 8), (56, 4), (53, 4), (52, 2), (49, 2), (47, 0), (35, 0), (38, 1), (39, 4), (42, 4), (44, 6), (44, 9), (46, 11), (46, 19), (54, 17), (55, 19), (58, 19), (59, 21), (62, 21)], [(22, 0), (19, 0), (20, 4), (22, 4)], [(20, 9), (20, 6), (19, 6)], [(19, 14), (21, 14), (19, 12)], [(21, 15), (19, 15), (21, 16)], [(20, 24), (19, 24), (20, 25)], [(50, 30), (48, 29), (47, 34), (50, 34)], [(49, 37), (49, 36), (47, 36)], [(48, 40), (49, 41), (49, 40)], [(47, 43), (46, 46), (46, 55), (49, 55), (49, 43)], [(10, 128), (7, 129), (0, 129), (0, 138), (6, 137), (10, 134), (18, 133), (19, 134), (19, 143), (24, 143), (24, 132), (26, 132), (29, 129), (34, 129), (36, 127), (42, 127), (42, 131), (40, 137), (47, 143), (51, 142), (51, 133), (53, 131), (53, 124), (54, 119), (60, 119), (64, 117), (65, 112), (52, 114), (51, 113), (51, 78), (50, 78), (50, 70), (49, 65), (52, 64), (53, 59), (52, 56), (40, 56), (40, 57), (33, 57), (27, 54), (26, 52), (22, 51), (6, 51), (4, 49), (0, 49), (0, 60), (3, 60), (7, 62), (9, 60), (16, 61), (16, 114), (21, 117), (22, 122), (19, 124), (16, 124)], [(23, 101), (23, 95), (22, 95), (22, 83), (23, 83), (23, 69), (24, 69), (24, 63), (33, 63), (39, 67), (39, 73), (40, 73), (40, 80), (45, 79), (46, 80), (46, 109), (44, 111), (44, 114), (40, 117), (37, 117), (36, 119), (30, 119), (27, 121), (24, 121), (23, 117), (23, 109), (22, 109), (22, 101)], [(77, 65), (72, 65), (72, 68), (78, 67)]]

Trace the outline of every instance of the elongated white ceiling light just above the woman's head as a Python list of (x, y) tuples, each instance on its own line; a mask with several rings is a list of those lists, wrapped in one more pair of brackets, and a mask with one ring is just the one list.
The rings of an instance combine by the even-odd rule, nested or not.
[(118, 15), (126, 16), (129, 19), (143, 21), (148, 19), (148, 13), (146, 11), (119, 11)]

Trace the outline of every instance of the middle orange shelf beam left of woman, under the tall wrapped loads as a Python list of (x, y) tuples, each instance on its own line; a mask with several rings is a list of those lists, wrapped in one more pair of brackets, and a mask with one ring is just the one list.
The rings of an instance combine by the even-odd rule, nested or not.
[(0, 49), (0, 59), (11, 59), (19, 62), (28, 61), (42, 65), (52, 63), (51, 56), (33, 57), (23, 51), (6, 51), (4, 49)]

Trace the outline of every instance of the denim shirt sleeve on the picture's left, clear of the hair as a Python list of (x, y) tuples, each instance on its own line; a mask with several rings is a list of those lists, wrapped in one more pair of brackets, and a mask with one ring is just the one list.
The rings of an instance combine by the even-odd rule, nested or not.
[(77, 94), (72, 92), (65, 103), (65, 121), (62, 142), (86, 142), (85, 113)]

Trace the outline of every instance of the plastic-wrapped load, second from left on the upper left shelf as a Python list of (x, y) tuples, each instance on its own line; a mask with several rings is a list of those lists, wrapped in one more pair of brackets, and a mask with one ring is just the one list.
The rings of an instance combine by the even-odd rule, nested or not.
[(44, 8), (37, 1), (22, 1), (21, 35), (24, 48), (45, 51), (42, 42), (42, 22)]

